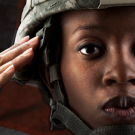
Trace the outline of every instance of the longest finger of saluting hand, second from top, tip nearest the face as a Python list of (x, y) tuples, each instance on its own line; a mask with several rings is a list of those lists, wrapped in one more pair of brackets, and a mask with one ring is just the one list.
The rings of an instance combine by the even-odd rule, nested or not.
[(29, 40), (28, 42), (18, 46), (17, 48), (14, 48), (3, 55), (0, 55), (0, 65), (3, 65), (13, 60), (14, 58), (16, 58), (17, 56), (19, 56), (29, 48), (33, 48), (35, 50), (38, 47), (38, 44), (39, 44), (39, 39), (38, 37), (35, 37)]

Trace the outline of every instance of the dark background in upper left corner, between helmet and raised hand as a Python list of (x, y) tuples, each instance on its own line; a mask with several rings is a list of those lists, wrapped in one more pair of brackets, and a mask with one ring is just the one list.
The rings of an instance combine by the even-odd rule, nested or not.
[(14, 43), (26, 0), (0, 0), (0, 52)]

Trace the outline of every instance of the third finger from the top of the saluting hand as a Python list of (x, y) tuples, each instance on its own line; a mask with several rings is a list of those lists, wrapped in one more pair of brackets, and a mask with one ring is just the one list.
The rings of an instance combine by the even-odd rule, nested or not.
[(0, 67), (0, 74), (4, 72), (10, 65), (14, 65), (15, 71), (22, 68), (26, 64), (32, 61), (34, 57), (34, 51), (32, 48), (26, 50), (23, 54), (16, 57), (14, 60), (2, 65)]

